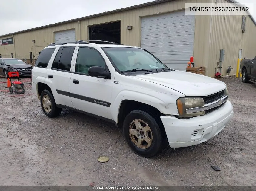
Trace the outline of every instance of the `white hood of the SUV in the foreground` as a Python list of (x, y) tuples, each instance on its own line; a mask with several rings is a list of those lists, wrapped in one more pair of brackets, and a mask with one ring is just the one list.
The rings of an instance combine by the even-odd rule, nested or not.
[(226, 88), (226, 84), (217, 79), (178, 70), (130, 77), (166, 86), (185, 96), (207, 96)]

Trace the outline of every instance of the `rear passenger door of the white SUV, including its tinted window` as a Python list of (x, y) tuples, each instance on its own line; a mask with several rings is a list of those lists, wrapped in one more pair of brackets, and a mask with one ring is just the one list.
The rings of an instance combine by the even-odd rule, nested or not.
[(46, 80), (50, 81), (55, 102), (58, 105), (73, 107), (70, 98), (71, 64), (75, 56), (76, 46), (59, 47)]

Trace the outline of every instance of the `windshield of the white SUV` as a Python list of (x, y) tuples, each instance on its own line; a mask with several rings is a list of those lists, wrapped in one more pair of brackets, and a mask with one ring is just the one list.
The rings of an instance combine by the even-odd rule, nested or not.
[(121, 72), (134, 69), (153, 71), (157, 68), (167, 68), (160, 60), (140, 48), (109, 47), (103, 49)]

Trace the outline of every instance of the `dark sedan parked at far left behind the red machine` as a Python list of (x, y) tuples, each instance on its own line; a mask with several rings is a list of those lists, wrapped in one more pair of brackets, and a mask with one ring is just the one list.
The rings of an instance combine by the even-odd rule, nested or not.
[(0, 75), (8, 78), (8, 72), (16, 71), (17, 68), (20, 76), (31, 76), (32, 65), (16, 58), (0, 58)]

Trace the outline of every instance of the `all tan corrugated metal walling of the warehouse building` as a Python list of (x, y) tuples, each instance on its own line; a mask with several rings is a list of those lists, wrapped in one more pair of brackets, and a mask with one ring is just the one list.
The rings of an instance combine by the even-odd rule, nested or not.
[[(221, 0), (224, 1), (224, 0)], [(54, 32), (75, 29), (76, 40), (89, 39), (88, 26), (106, 22), (121, 21), (121, 43), (131, 46), (140, 46), (141, 17), (152, 14), (160, 14), (181, 10), (185, 3), (210, 3), (211, 0), (176, 0), (144, 8), (137, 8), (129, 11), (113, 13), (96, 18), (90, 18), (79, 23), (71, 22), (44, 29), (14, 34), (16, 55), (38, 55), (45, 46), (55, 42)], [(220, 1), (219, 1), (220, 2)], [(231, 65), (234, 68), (231, 74), (235, 73), (238, 51), (242, 49), (242, 57), (254, 57), (256, 49), (256, 27), (247, 16), (246, 32), (241, 32), (242, 16), (197, 16), (195, 21), (194, 37), (194, 62), (195, 66), (206, 66), (206, 75), (214, 77), (215, 68), (219, 59), (219, 50), (225, 49), (226, 56), (223, 63), (223, 75)], [(133, 26), (127, 30), (126, 26)], [(81, 31), (81, 32), (80, 32)], [(211, 31), (211, 32), (210, 32)], [(11, 36), (1, 37), (7, 38)], [(35, 40), (35, 43), (32, 42)], [(14, 46), (0, 46), (0, 54), (11, 55)]]

